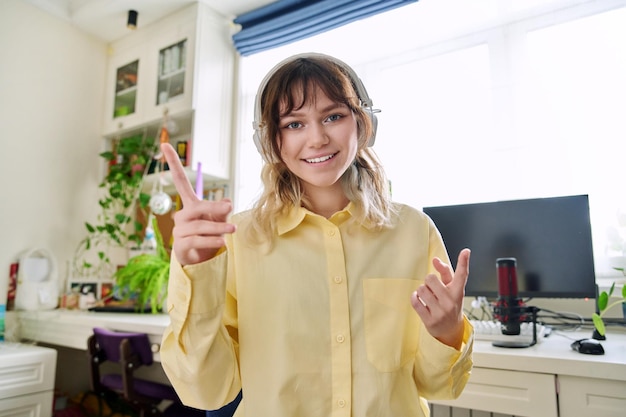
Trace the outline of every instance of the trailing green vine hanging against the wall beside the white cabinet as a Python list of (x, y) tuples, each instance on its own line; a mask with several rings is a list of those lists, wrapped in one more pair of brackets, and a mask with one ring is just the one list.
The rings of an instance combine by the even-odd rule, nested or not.
[(153, 139), (134, 135), (113, 143), (112, 150), (100, 156), (108, 172), (100, 183), (104, 195), (98, 201), (97, 221), (85, 222), (87, 236), (80, 241), (74, 256), (75, 277), (110, 277), (114, 272), (111, 249), (142, 242), (143, 224), (135, 220), (137, 206), (146, 210), (150, 195), (141, 192), (149, 161), (157, 150)]

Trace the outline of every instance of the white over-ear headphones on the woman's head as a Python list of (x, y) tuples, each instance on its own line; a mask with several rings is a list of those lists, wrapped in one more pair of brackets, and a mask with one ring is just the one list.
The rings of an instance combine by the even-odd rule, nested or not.
[(254, 121), (252, 122), (252, 127), (254, 128), (254, 136), (253, 136), (254, 144), (256, 145), (256, 148), (259, 151), (259, 153), (263, 155), (263, 150), (262, 150), (263, 147), (261, 145), (261, 140), (263, 136), (263, 128), (261, 128), (261, 116), (262, 116), (261, 97), (263, 96), (263, 91), (265, 90), (265, 87), (267, 86), (267, 83), (269, 82), (270, 78), (272, 78), (274, 73), (279, 68), (282, 68), (285, 64), (295, 61), (300, 58), (324, 58), (329, 61), (332, 61), (333, 63), (341, 67), (348, 74), (348, 77), (350, 78), (352, 85), (354, 86), (354, 89), (356, 90), (356, 93), (359, 96), (361, 107), (363, 108), (365, 113), (370, 116), (370, 119), (372, 120), (372, 136), (370, 137), (367, 145), (368, 146), (374, 145), (374, 142), (376, 140), (376, 129), (378, 128), (378, 119), (376, 118), (375, 113), (380, 112), (380, 110), (374, 109), (372, 107), (373, 106), (372, 99), (367, 94), (367, 90), (365, 89), (365, 86), (363, 85), (363, 82), (361, 81), (361, 79), (356, 75), (354, 70), (350, 68), (349, 65), (347, 65), (343, 61), (340, 61), (337, 58), (334, 58), (330, 55), (320, 54), (320, 53), (304, 53), (304, 54), (291, 56), (279, 62), (276, 66), (274, 66), (274, 68), (270, 70), (270, 72), (267, 73), (267, 75), (265, 76), (265, 78), (263, 78), (263, 80), (261, 81), (261, 84), (259, 85), (259, 89), (257, 91), (256, 98), (254, 101)]

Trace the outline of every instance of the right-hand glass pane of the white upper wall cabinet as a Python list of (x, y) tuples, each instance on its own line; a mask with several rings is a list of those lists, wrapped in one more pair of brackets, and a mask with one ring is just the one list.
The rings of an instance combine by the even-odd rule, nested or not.
[(187, 39), (159, 51), (159, 77), (156, 104), (182, 97), (185, 93)]

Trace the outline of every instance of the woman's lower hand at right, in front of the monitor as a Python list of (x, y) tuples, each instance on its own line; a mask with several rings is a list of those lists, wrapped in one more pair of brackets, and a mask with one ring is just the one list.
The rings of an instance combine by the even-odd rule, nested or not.
[(463, 343), (463, 298), (469, 275), (470, 250), (459, 253), (456, 271), (441, 259), (433, 266), (441, 274), (429, 274), (424, 284), (411, 295), (411, 305), (428, 332), (441, 343), (460, 349)]

